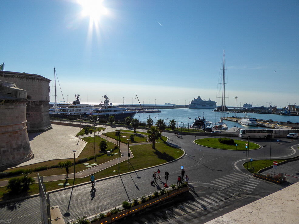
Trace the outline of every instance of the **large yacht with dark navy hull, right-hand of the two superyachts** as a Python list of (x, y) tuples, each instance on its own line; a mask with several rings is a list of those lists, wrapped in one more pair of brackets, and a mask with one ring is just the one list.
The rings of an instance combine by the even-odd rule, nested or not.
[(133, 118), (138, 112), (137, 110), (128, 110), (124, 107), (118, 107), (109, 103), (109, 98), (104, 95), (104, 103), (101, 107), (90, 109), (90, 115), (97, 115), (99, 119), (109, 119), (114, 116), (115, 120), (124, 120), (126, 117)]

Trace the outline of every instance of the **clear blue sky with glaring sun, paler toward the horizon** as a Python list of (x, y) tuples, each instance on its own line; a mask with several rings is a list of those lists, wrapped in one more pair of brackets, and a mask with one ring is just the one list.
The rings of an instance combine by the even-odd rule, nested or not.
[(225, 50), (226, 105), (299, 104), (298, 0), (0, 0), (0, 10), (0, 64), (52, 80), (52, 102), (55, 67), (58, 102), (219, 105)]

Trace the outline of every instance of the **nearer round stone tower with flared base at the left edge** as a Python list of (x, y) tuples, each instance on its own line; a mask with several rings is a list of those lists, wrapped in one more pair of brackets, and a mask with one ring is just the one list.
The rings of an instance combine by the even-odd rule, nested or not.
[(0, 81), (0, 168), (33, 158), (26, 126), (27, 91)]

